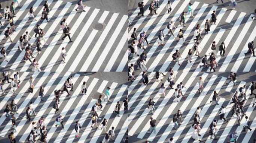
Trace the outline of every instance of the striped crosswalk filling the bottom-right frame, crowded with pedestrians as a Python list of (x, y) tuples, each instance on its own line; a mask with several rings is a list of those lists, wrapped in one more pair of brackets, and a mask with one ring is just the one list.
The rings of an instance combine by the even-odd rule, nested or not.
[[(254, 73), (237, 73), (236, 85), (229, 83), (228, 73), (226, 72), (177, 72), (173, 87), (176, 88), (177, 84), (183, 82), (186, 87), (182, 90), (183, 95), (186, 99), (179, 99), (179, 102), (175, 101), (174, 89), (171, 89), (167, 78), (170, 72), (164, 72), (166, 76), (162, 81), (156, 81), (155, 72), (148, 73), (149, 85), (145, 86), (142, 83), (142, 73), (136, 75), (136, 79), (128, 86), (128, 97), (129, 97), (129, 114), (127, 118), (127, 126), (129, 129), (128, 135), (131, 142), (143, 142), (150, 141), (152, 143), (166, 143), (171, 137), (174, 138), (174, 142), (177, 143), (191, 143), (198, 142), (191, 137), (193, 133), (193, 128), (191, 125), (193, 123), (194, 114), (197, 107), (202, 109), (200, 114), (201, 118), (201, 137), (199, 137), (202, 142), (213, 142), (210, 140), (209, 136), (209, 126), (211, 122), (216, 119), (217, 121), (217, 138), (216, 142), (226, 143), (228, 142), (229, 134), (234, 131), (238, 133), (238, 140), (240, 142), (251, 142), (254, 138), (253, 131), (242, 131), (243, 125), (245, 123), (245, 116), (241, 121), (241, 125), (237, 126), (237, 117), (231, 116), (231, 109), (233, 104), (231, 98), (235, 91), (239, 92), (239, 88), (246, 85), (246, 95), (247, 101), (244, 105), (244, 111), (249, 117), (250, 121), (254, 121), (256, 118), (256, 110), (252, 107), (254, 95), (250, 95), (251, 82), (255, 81)], [(199, 76), (202, 77), (204, 82), (204, 92), (198, 94), (197, 90), (199, 88), (198, 80)], [(247, 77), (252, 77), (248, 79)], [(162, 83), (165, 83), (166, 97), (159, 98), (159, 89)], [(226, 84), (228, 83), (228, 84)], [(219, 105), (215, 102), (210, 103), (212, 100), (214, 90), (217, 91), (220, 98), (218, 98)], [(147, 108), (149, 99), (155, 101), (154, 114), (152, 114)], [(219, 112), (221, 106), (226, 107), (225, 117), (228, 123), (224, 123), (223, 120), (219, 120)], [(177, 130), (174, 129), (174, 123), (172, 121), (173, 115), (177, 113), (180, 109), (183, 112), (183, 123), (179, 125)], [(147, 133), (149, 131), (150, 117), (157, 121), (156, 123), (156, 133)], [(125, 125), (124, 125), (125, 126)], [(251, 127), (255, 128), (255, 124)], [(131, 137), (132, 136), (132, 137)], [(246, 138), (249, 137), (249, 139)]]

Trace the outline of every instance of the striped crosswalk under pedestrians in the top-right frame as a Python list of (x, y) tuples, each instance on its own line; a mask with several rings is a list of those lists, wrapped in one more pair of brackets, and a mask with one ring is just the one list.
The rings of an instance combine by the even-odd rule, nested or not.
[[(148, 9), (150, 2), (144, 0), (144, 17), (137, 16), (139, 9), (131, 11), (129, 20), (132, 22), (133, 26), (129, 26), (131, 29), (128, 33), (128, 45), (131, 44), (131, 34), (134, 28), (137, 28), (137, 35), (141, 32), (146, 31), (147, 41), (150, 45), (144, 44), (144, 49), (138, 49), (138, 54), (146, 53), (147, 59), (145, 61), (147, 71), (169, 71), (170, 67), (173, 67), (174, 71), (210, 71), (209, 69), (200, 69), (199, 64), (201, 63), (202, 57), (207, 54), (209, 58), (209, 53), (211, 51), (211, 44), (216, 41), (217, 44), (217, 56), (216, 61), (219, 67), (216, 71), (256, 71), (255, 59), (252, 54), (244, 55), (248, 51), (247, 44), (251, 41), (255, 41), (256, 24), (254, 19), (251, 19), (253, 14), (239, 12), (237, 10), (229, 10), (229, 7), (214, 6), (212, 4), (199, 3), (197, 1), (192, 3), (194, 9), (193, 15), (186, 15), (186, 27), (179, 25), (179, 19), (181, 13), (188, 12), (188, 3), (190, 0), (174, 0), (171, 2), (171, 13), (167, 13), (165, 8), (168, 0), (159, 1), (160, 7), (156, 9), (158, 15), (150, 15)], [(216, 10), (217, 24), (210, 24), (209, 34), (204, 33), (204, 24), (206, 19), (211, 18), (213, 10)], [(176, 42), (177, 38), (172, 35), (166, 35), (168, 32), (167, 23), (173, 21), (176, 29), (173, 28), (174, 35), (177, 36), (179, 30), (182, 29), (184, 34), (184, 39), (187, 44), (183, 43), (183, 40)], [(195, 55), (193, 51), (193, 46), (195, 42), (195, 36), (193, 33), (195, 31), (196, 25), (201, 25), (202, 39), (200, 42), (200, 57)], [(164, 37), (164, 46), (158, 45), (157, 39), (159, 30), (162, 30)], [(139, 36), (137, 36), (138, 40)], [(218, 46), (221, 42), (225, 42), (226, 53), (225, 56), (220, 56), (220, 51), (218, 51)], [(188, 51), (192, 49), (192, 62), (188, 61)], [(181, 57), (179, 58), (181, 66), (172, 59), (173, 53), (179, 50)], [(127, 51), (130, 55), (130, 51)], [(139, 57), (135, 54), (135, 58), (128, 57), (128, 66), (131, 64), (135, 65), (137, 70), (137, 60)], [(209, 60), (209, 59), (208, 59)], [(209, 62), (209, 61), (208, 61)]]

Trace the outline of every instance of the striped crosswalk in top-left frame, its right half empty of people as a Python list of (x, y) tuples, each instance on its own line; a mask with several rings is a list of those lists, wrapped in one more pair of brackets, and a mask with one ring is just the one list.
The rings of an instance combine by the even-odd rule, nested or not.
[[(34, 7), (36, 20), (28, 20), (30, 3)], [(31, 35), (29, 39), (31, 50), (42, 71), (124, 71), (127, 65), (127, 15), (113, 13), (106, 10), (85, 7), (86, 12), (77, 12), (77, 4), (62, 0), (48, 0), (50, 12), (48, 19), (40, 22), (44, 1), (22, 0), (22, 7), (16, 9), (14, 23), (16, 26), (11, 39), (6, 41), (4, 32), (7, 22), (4, 23), (0, 35), (0, 43), (6, 48), (7, 60), (0, 61), (0, 69), (17, 71), (31, 71), (30, 61), (23, 62), (25, 50), (20, 51), (19, 36), (26, 31)], [(70, 27), (71, 40), (61, 40), (63, 31), (59, 30), (60, 22), (67, 19)], [(34, 29), (40, 25), (45, 32), (48, 45), (42, 43), (42, 52), (36, 50), (37, 38)], [(8, 25), (9, 26), (9, 25)], [(61, 57), (61, 48), (65, 47), (67, 57), (64, 63)], [(125, 57), (125, 58), (124, 58)], [(31, 60), (33, 60), (32, 58)]]

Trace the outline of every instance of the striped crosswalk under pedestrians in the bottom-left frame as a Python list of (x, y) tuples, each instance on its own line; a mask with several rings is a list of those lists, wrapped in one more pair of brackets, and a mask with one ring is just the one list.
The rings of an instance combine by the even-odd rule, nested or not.
[[(11, 77), (15, 73), (11, 74)], [(47, 142), (91, 142), (96, 143), (104, 139), (105, 134), (103, 130), (96, 130), (95, 127), (91, 128), (91, 117), (89, 114), (91, 112), (92, 106), (97, 102), (95, 95), (97, 93), (104, 93), (107, 86), (110, 89), (110, 100), (111, 102), (103, 101), (102, 105), (103, 111), (98, 111), (99, 117), (106, 118), (108, 120), (109, 130), (111, 127), (115, 127), (115, 134), (119, 136), (119, 133), (123, 133), (127, 130), (127, 127), (122, 128), (122, 125), (125, 122), (126, 115), (124, 110), (120, 110), (120, 117), (117, 117), (116, 114), (112, 114), (115, 108), (117, 101), (120, 101), (122, 108), (124, 108), (123, 102), (127, 96), (127, 85), (122, 85), (116, 82), (111, 82), (103, 79), (98, 79), (91, 76), (86, 76), (83, 73), (71, 73), (71, 72), (21, 72), (20, 73), (21, 86), (17, 88), (16, 93), (13, 93), (10, 90), (10, 84), (5, 81), (3, 88), (6, 94), (1, 94), (1, 111), (3, 113), (7, 104), (10, 104), (12, 99), (15, 100), (18, 108), (18, 113), (14, 114), (16, 117), (16, 130), (15, 138), (19, 142), (26, 142), (27, 137), (33, 127), (31, 122), (28, 122), (26, 119), (25, 110), (33, 102), (33, 109), (36, 112), (36, 116), (31, 115), (31, 121), (38, 121), (40, 117), (45, 118), (45, 126), (47, 128)], [(73, 84), (74, 92), (71, 92), (72, 96), (67, 96), (67, 93), (64, 92), (60, 97), (60, 104), (58, 114), (55, 114), (55, 109), (52, 108), (54, 104), (54, 90), (63, 89), (63, 84), (65, 80), (73, 75)], [(28, 92), (30, 83), (28, 80), (30, 76), (34, 78), (35, 87), (33, 93)], [(86, 81), (87, 85), (87, 94), (81, 94), (81, 85)], [(40, 86), (44, 87), (45, 90), (45, 99), (41, 101), (39, 95)], [(106, 98), (106, 97), (104, 97)], [(64, 127), (66, 130), (61, 130), (60, 127), (55, 127), (55, 118), (58, 115), (64, 117)], [(0, 139), (4, 141), (7, 140), (7, 135), (13, 131), (10, 129), (12, 124), (11, 120), (8, 120), (5, 114), (1, 114), (0, 117)], [(79, 121), (81, 125), (80, 137), (75, 138), (76, 132), (74, 131), (75, 122)], [(101, 124), (101, 120), (98, 120), (98, 125)], [(119, 136), (116, 139), (122, 140), (123, 136)], [(40, 140), (40, 136), (36, 140)], [(6, 141), (7, 142), (7, 141)]]

